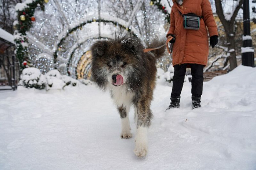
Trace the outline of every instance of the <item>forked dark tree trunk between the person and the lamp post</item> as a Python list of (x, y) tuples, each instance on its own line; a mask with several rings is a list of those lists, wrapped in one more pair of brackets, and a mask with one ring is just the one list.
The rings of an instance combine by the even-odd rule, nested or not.
[(228, 52), (230, 53), (230, 56), (228, 56), (228, 60), (230, 63), (230, 69), (233, 70), (237, 67), (237, 58), (235, 52), (235, 19), (237, 17), (238, 11), (242, 7), (243, 0), (238, 0), (237, 5), (233, 8), (232, 12), (229, 14), (229, 17), (227, 17), (227, 15), (225, 16), (223, 12), (223, 2), (223, 0), (215, 0), (216, 13), (219, 16), (226, 33), (227, 47)]

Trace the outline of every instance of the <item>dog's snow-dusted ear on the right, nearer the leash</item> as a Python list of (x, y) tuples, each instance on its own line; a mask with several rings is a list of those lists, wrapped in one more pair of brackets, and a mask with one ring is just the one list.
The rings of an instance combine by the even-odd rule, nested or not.
[(121, 42), (123, 47), (134, 53), (138, 53), (142, 49), (140, 39), (138, 38), (124, 38)]

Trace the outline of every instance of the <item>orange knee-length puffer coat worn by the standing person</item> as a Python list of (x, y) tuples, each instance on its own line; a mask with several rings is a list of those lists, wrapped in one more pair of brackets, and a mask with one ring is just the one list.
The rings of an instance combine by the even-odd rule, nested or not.
[[(210, 37), (218, 35), (209, 0), (183, 0), (182, 5), (173, 0), (173, 3), (170, 29), (166, 35), (166, 37), (170, 34), (176, 36), (173, 44), (173, 65), (184, 63), (206, 65), (209, 54), (206, 26)], [(199, 30), (184, 29), (183, 17), (178, 10), (183, 14), (193, 13), (202, 16)]]

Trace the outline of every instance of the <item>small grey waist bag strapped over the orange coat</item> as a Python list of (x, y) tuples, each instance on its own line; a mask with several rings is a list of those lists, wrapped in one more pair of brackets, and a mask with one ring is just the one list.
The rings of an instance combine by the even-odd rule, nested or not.
[(183, 15), (181, 12), (180, 15), (183, 16), (183, 26), (185, 29), (199, 30), (200, 19), (203, 18), (202, 16), (198, 16), (193, 13)]

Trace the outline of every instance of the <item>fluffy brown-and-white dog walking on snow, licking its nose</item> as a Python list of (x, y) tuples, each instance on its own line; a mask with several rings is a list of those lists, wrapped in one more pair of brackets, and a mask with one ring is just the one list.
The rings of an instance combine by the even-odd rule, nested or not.
[[(148, 48), (164, 44), (155, 40)], [(138, 157), (148, 151), (147, 129), (151, 123), (150, 110), (156, 80), (156, 60), (165, 47), (144, 53), (138, 38), (116, 38), (97, 41), (91, 47), (92, 78), (102, 90), (110, 90), (122, 121), (121, 138), (131, 138), (128, 113), (134, 106), (137, 124), (135, 150)]]

